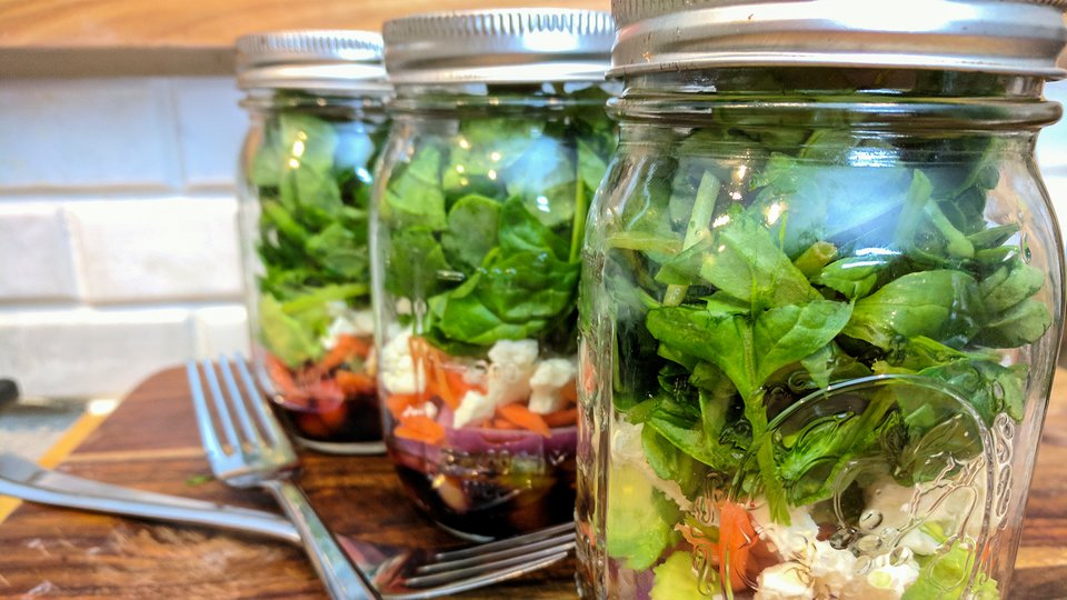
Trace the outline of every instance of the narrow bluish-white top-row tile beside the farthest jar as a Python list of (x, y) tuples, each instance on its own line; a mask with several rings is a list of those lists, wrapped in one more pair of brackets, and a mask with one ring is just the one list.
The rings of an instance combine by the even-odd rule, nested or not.
[(189, 189), (235, 188), (248, 117), (238, 106), (241, 93), (229, 77), (171, 80), (178, 110), (178, 136)]

